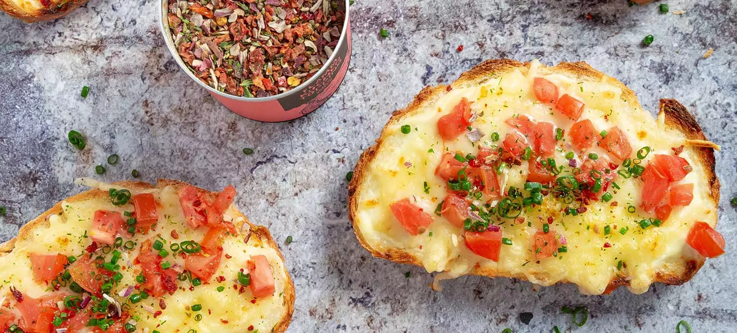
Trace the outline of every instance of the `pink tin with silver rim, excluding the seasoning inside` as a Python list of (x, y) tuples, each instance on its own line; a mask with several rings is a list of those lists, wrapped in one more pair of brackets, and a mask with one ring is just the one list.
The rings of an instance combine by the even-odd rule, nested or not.
[(346, 21), (343, 23), (340, 39), (324, 66), (310, 77), (310, 80), (290, 91), (270, 97), (237, 97), (217, 91), (195, 77), (195, 74), (192, 74), (186, 68), (172, 40), (169, 19), (167, 18), (167, 2), (167, 0), (161, 0), (159, 21), (164, 41), (167, 43), (167, 48), (174, 60), (192, 80), (207, 89), (218, 102), (225, 105), (230, 111), (248, 119), (258, 120), (259, 122), (284, 122), (315, 111), (338, 90), (338, 85), (343, 82), (343, 77), (346, 76), (346, 71), (348, 71), (348, 64), (351, 59), (351, 25), (348, 0), (346, 0)]

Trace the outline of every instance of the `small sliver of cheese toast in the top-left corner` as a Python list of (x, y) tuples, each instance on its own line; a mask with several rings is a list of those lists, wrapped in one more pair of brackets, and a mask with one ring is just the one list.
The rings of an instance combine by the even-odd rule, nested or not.
[(85, 3), (87, 0), (0, 0), (0, 9), (30, 23), (60, 18)]

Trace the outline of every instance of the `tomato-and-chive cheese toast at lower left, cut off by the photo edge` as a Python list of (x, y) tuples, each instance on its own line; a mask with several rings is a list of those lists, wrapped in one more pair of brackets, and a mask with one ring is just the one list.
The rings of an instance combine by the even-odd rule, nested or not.
[[(57, 203), (0, 245), (0, 331), (10, 327), (44, 333), (287, 329), (295, 292), (284, 258), (269, 231), (249, 222), (231, 205), (234, 189), (220, 201), (226, 208), (213, 213), (221, 199), (218, 193), (175, 180), (159, 180), (156, 186), (131, 181), (83, 183), (94, 189)], [(111, 189), (128, 190), (133, 199), (116, 206)], [(199, 197), (186, 203), (184, 191)], [(150, 214), (142, 213), (144, 203), (136, 201), (137, 194), (156, 200), (156, 220), (147, 225), (147, 232), (142, 232), (147, 218), (142, 215)], [(186, 222), (189, 215), (183, 205), (189, 204), (209, 210), (200, 211), (212, 217), (208, 225), (192, 228)], [(126, 225), (116, 231), (112, 245), (105, 244), (99, 232), (105, 229), (95, 226), (102, 216), (99, 211), (135, 219), (126, 223), (135, 223), (136, 234), (122, 231)], [(210, 247), (217, 250), (211, 252)], [(38, 264), (39, 257), (47, 256), (52, 258), (47, 264)], [(115, 256), (118, 259), (112, 258)], [(210, 269), (212, 276), (200, 278), (203, 273), (192, 268), (195, 264), (190, 259), (195, 264), (205, 262), (198, 267)], [(151, 260), (152, 265), (144, 265)], [(94, 279), (85, 282), (86, 273), (77, 274), (80, 262), (99, 264), (91, 270)], [(103, 266), (113, 270), (106, 272)], [(45, 281), (40, 279), (47, 273)], [(269, 276), (272, 281), (266, 281)], [(159, 279), (163, 286), (148, 284)], [(86, 286), (96, 280), (110, 285), (98, 284), (98, 290), (88, 290)], [(256, 284), (269, 282), (273, 289), (259, 290), (256, 297)], [(90, 326), (90, 318), (97, 324)]]

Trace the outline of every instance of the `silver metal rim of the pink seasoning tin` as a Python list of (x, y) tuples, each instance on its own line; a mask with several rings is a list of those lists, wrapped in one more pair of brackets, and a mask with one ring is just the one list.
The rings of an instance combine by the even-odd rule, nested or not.
[[(327, 0), (324, 0), (324, 1), (327, 1)], [(340, 45), (340, 43), (345, 42), (345, 39), (348, 38), (348, 36), (346, 35), (346, 30), (348, 29), (348, 25), (350, 24), (350, 20), (349, 20), (350, 4), (349, 4), (349, 0), (345, 0), (345, 1), (346, 1), (346, 21), (343, 21), (343, 29), (340, 32), (340, 38), (338, 39), (338, 43), (336, 45)], [(164, 17), (166, 17), (167, 14), (169, 13), (169, 8), (167, 6), (167, 3), (168, 3), (167, 0), (161, 0), (159, 2), (159, 4), (161, 5), (161, 10), (159, 11), (158, 27), (161, 29), (161, 35), (164, 36), (164, 43), (167, 44), (167, 49), (169, 49), (169, 52), (174, 57), (174, 60), (179, 65), (179, 68), (181, 68), (187, 74), (187, 76), (189, 76), (189, 78), (194, 80), (196, 83), (201, 85), (203, 88), (206, 88), (207, 91), (209, 91), (211, 94), (218, 94), (222, 97), (227, 97), (229, 99), (237, 99), (243, 102), (266, 102), (270, 100), (280, 99), (282, 97), (287, 97), (287, 96), (290, 96), (291, 94), (296, 94), (298, 91), (301, 91), (302, 88), (312, 83), (313, 80), (317, 80), (318, 77), (320, 77), (321, 74), (323, 74), (323, 72), (326, 71), (326, 69), (328, 69), (329, 64), (331, 64), (333, 60), (335, 60), (335, 57), (338, 54), (338, 52), (332, 52), (332, 55), (328, 57), (327, 61), (323, 64), (322, 68), (319, 71), (317, 71), (315, 75), (312, 75), (312, 77), (310, 77), (310, 80), (307, 80), (301, 83), (300, 85), (298, 85), (296, 88), (290, 91), (284, 92), (282, 94), (276, 94), (276, 95), (268, 96), (268, 97), (240, 97), (240, 96), (235, 96), (231, 94), (226, 94), (226, 93), (218, 91), (217, 89), (212, 88), (211, 86), (203, 83), (202, 80), (198, 79), (198, 77), (195, 77), (195, 74), (192, 74), (192, 71), (189, 71), (189, 69), (187, 69), (186, 66), (184, 65), (184, 60), (182, 60), (182, 58), (179, 56), (179, 53), (175, 49), (174, 41), (172, 40), (172, 35), (171, 35), (171, 32), (169, 31), (169, 26), (165, 24)], [(336, 47), (335, 49), (338, 49), (338, 47)]]

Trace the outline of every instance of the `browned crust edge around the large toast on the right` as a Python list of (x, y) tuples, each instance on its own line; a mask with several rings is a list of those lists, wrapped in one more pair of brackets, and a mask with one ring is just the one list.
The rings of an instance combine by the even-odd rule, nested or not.
[[(458, 77), (458, 80), (455, 80), (453, 83), (451, 83), (450, 88), (461, 88), (468, 85), (475, 85), (477, 83), (488, 80), (489, 77), (493, 77), (499, 74), (506, 74), (506, 72), (518, 68), (529, 69), (530, 66), (530, 63), (520, 63), (518, 61), (509, 59), (486, 60), (473, 67), (469, 71), (461, 74), (461, 76)], [(591, 67), (588, 63), (559, 63), (556, 66), (547, 67), (547, 69), (548, 71), (556, 72), (559, 74), (566, 74), (567, 76), (573, 75), (584, 80), (605, 81), (607, 83), (618, 85), (619, 88), (622, 89), (627, 102), (632, 106), (632, 108), (642, 109), (634, 91), (629, 89), (626, 85), (624, 85), (624, 83), (621, 83), (621, 81), (616, 80), (613, 77), (609, 77), (606, 74), (601, 73), (601, 71), (593, 69), (593, 67)], [(373, 161), (374, 156), (376, 155), (377, 150), (383, 141), (384, 131), (386, 130), (386, 128), (394, 122), (399, 121), (399, 119), (402, 118), (402, 116), (404, 116), (405, 114), (417, 111), (419, 108), (422, 107), (422, 105), (438, 99), (439, 97), (441, 97), (441, 94), (443, 94), (444, 91), (447, 91), (447, 89), (450, 88), (446, 85), (437, 85), (434, 87), (427, 86), (415, 96), (415, 98), (412, 102), (410, 102), (407, 108), (402, 108), (392, 113), (391, 118), (385, 125), (384, 130), (382, 130), (381, 136), (379, 139), (377, 139), (376, 144), (372, 145), (363, 154), (361, 154), (354, 168), (354, 175), (348, 189), (349, 219), (351, 220), (351, 223), (353, 225), (353, 231), (354, 234), (356, 234), (358, 242), (361, 246), (363, 246), (363, 248), (368, 250), (368, 252), (371, 253), (372, 256), (382, 259), (388, 259), (392, 262), (422, 266), (422, 263), (419, 261), (419, 259), (413, 256), (411, 253), (399, 250), (397, 248), (378, 250), (372, 248), (371, 245), (366, 242), (366, 239), (363, 238), (363, 234), (360, 232), (360, 228), (355, 221), (355, 214), (358, 206), (358, 199), (355, 193), (357, 192), (358, 186), (360, 186), (360, 184), (363, 183), (364, 178), (366, 178), (368, 168), (371, 165), (371, 161)], [(675, 99), (661, 99), (660, 110), (661, 112), (665, 112), (666, 126), (673, 127), (676, 130), (679, 130), (685, 135), (687, 139), (706, 140), (706, 137), (704, 136), (701, 127), (699, 127), (699, 124), (696, 122), (696, 119), (694, 119), (694, 116), (691, 115), (691, 113), (689, 113), (688, 110), (686, 110), (683, 105), (678, 103)], [(711, 197), (713, 198), (714, 203), (718, 204), (719, 180), (716, 178), (716, 172), (714, 171), (713, 149), (710, 147), (695, 147), (695, 149), (699, 151), (699, 162), (702, 163), (705, 166), (705, 169), (710, 172), (709, 177), (711, 184)], [(682, 267), (682, 269), (681, 267), (663, 267), (663, 270), (657, 271), (655, 273), (654, 282), (661, 282), (664, 284), (683, 284), (687, 281), (690, 281), (691, 278), (694, 277), (696, 272), (698, 272), (699, 269), (703, 266), (704, 262), (705, 258), (699, 257), (698, 259), (685, 259), (684, 267)], [(518, 274), (515, 276), (506, 276), (500, 275), (494, 270), (482, 270), (480, 267), (478, 267), (478, 265), (469, 274), (487, 276), (490, 278), (507, 277), (519, 278), (520, 280), (527, 279), (522, 274)], [(567, 281), (560, 282), (565, 283)], [(609, 285), (607, 286), (606, 291), (608, 293), (612, 290), (615, 290), (617, 287), (626, 285), (629, 285), (629, 282), (626, 281), (624, 278), (612, 278), (612, 280), (609, 281)]]

